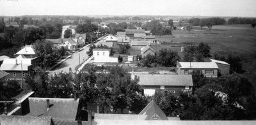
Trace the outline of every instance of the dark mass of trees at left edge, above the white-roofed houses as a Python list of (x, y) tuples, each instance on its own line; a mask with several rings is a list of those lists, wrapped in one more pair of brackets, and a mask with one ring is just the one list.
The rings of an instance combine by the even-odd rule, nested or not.
[(13, 54), (24, 45), (31, 45), (36, 40), (56, 39), (60, 38), (62, 31), (62, 22), (42, 22), (38, 27), (22, 27), (8, 26), (1, 22), (0, 27), (0, 54), (13, 57)]

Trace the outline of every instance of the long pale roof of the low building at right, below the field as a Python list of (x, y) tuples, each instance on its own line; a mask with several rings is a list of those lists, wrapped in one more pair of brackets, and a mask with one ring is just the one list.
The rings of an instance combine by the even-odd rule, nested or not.
[(214, 62), (191, 62), (190, 63), (190, 62), (177, 61), (177, 65), (180, 66), (180, 68), (218, 69), (217, 64)]

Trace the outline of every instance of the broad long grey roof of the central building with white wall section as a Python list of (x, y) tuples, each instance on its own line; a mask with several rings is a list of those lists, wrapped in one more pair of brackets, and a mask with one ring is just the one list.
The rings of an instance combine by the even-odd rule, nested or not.
[(192, 75), (135, 74), (139, 85), (193, 86)]

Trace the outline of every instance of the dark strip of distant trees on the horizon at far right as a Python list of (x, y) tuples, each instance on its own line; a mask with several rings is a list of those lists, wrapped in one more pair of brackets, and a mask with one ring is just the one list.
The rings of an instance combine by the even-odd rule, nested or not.
[(234, 24), (256, 24), (256, 18), (229, 18), (228, 24), (234, 25)]

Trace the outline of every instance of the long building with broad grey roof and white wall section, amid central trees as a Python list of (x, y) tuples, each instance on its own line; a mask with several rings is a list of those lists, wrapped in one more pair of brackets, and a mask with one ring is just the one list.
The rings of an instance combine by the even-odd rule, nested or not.
[(191, 92), (193, 87), (192, 75), (132, 74), (131, 77), (139, 78), (138, 84), (146, 96), (153, 96), (158, 92), (164, 96), (179, 96), (180, 91)]

